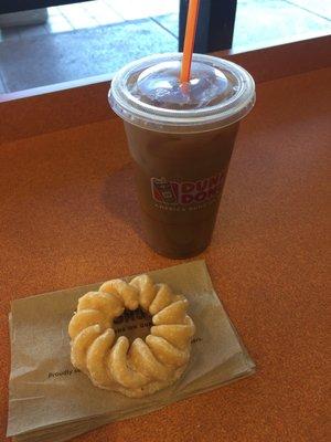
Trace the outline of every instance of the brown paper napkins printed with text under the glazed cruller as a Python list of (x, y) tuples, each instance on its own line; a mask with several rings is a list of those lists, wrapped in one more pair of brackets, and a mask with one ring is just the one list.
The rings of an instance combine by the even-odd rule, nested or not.
[[(65, 441), (254, 372), (254, 362), (214, 292), (204, 261), (148, 273), (156, 283), (168, 283), (189, 299), (196, 334), (184, 376), (163, 391), (130, 399), (94, 387), (74, 369), (67, 325), (79, 296), (100, 283), (14, 301), (7, 435), (18, 441)], [(139, 312), (116, 324), (117, 332), (128, 337), (146, 336), (149, 326), (150, 318)]]

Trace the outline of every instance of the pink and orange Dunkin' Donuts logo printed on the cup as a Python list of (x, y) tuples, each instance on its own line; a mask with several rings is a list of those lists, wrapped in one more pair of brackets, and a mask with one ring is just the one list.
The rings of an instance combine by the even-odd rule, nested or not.
[(168, 181), (151, 178), (152, 197), (163, 204), (200, 204), (216, 197), (224, 183), (225, 172), (196, 181)]

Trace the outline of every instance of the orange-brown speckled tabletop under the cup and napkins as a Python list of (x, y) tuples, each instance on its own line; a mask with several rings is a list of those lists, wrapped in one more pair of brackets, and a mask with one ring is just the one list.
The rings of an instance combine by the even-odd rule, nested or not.
[[(200, 256), (257, 373), (75, 440), (327, 441), (330, 80), (258, 85)], [(109, 119), (0, 146), (1, 440), (11, 299), (177, 263), (140, 238), (125, 145)]]

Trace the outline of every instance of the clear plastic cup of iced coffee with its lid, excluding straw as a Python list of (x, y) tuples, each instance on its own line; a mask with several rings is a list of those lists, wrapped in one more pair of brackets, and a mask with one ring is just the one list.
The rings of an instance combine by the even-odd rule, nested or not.
[(109, 92), (136, 165), (146, 240), (175, 259), (210, 244), (239, 122), (255, 103), (243, 67), (194, 54), (190, 82), (181, 84), (181, 56), (136, 61)]

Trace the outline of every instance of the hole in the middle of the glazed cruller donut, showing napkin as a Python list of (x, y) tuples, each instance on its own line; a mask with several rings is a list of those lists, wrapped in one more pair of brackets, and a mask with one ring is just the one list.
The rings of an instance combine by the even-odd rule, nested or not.
[(126, 308), (122, 315), (113, 322), (116, 338), (126, 336), (130, 344), (136, 338), (145, 339), (150, 334), (151, 326), (152, 316), (141, 307), (138, 307), (136, 311)]

